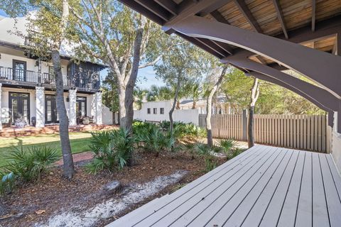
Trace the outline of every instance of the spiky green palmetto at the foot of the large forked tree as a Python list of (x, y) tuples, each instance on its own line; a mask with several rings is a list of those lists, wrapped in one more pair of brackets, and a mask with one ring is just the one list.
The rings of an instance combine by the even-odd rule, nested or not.
[(104, 169), (115, 170), (128, 165), (133, 155), (135, 139), (129, 131), (120, 128), (92, 133), (90, 143), (94, 160), (87, 165), (87, 170), (97, 174)]

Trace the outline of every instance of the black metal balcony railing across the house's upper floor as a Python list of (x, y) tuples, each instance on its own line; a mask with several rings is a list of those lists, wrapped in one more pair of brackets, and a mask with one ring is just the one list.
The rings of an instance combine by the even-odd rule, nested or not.
[[(46, 84), (55, 86), (53, 74), (34, 72), (31, 70), (18, 70), (10, 67), (0, 66), (0, 79), (12, 80), (16, 82), (29, 82), (33, 84)], [(85, 89), (99, 89), (99, 81), (79, 77), (63, 76), (65, 87), (78, 87)]]

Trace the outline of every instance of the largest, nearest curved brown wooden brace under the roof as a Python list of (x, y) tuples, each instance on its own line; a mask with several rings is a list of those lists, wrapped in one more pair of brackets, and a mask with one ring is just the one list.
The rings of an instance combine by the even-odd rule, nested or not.
[(163, 29), (169, 30), (170, 26), (188, 36), (229, 43), (268, 57), (305, 75), (338, 99), (341, 98), (340, 56), (200, 16), (188, 16), (183, 21), (164, 26)]

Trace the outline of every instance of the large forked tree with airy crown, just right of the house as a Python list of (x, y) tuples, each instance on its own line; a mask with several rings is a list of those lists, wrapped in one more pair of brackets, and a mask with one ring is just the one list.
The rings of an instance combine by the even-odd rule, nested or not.
[(130, 130), (139, 69), (158, 62), (172, 48), (172, 39), (156, 23), (118, 1), (82, 0), (70, 12), (77, 18), (77, 57), (109, 67), (118, 84), (120, 125)]

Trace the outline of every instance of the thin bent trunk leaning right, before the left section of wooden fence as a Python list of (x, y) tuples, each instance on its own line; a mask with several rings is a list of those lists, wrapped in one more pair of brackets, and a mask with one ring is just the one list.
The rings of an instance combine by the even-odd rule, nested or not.
[(212, 87), (210, 94), (207, 97), (206, 101), (206, 131), (207, 131), (207, 145), (212, 148), (213, 146), (213, 138), (212, 138), (212, 125), (211, 125), (211, 116), (212, 116), (212, 98), (215, 95), (215, 92), (217, 92), (217, 89), (219, 89), (220, 84), (222, 84), (222, 79), (224, 79), (224, 75), (226, 74), (227, 65), (224, 66), (222, 69), (222, 73), (220, 74), (219, 79), (215, 83), (215, 85)]

